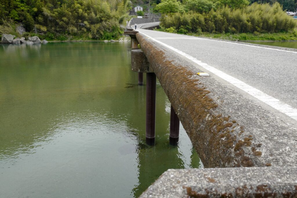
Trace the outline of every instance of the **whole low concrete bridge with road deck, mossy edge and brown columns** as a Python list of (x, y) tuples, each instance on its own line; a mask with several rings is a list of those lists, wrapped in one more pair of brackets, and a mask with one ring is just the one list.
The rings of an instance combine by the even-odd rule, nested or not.
[(171, 139), (179, 119), (207, 168), (168, 170), (141, 197), (297, 197), (297, 50), (125, 34), (140, 84), (147, 73), (146, 137), (154, 138), (155, 75), (172, 105)]

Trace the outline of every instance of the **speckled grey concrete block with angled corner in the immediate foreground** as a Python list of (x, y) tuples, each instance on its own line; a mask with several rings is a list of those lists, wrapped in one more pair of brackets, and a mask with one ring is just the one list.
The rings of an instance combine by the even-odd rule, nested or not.
[(296, 167), (169, 169), (140, 198), (297, 197)]

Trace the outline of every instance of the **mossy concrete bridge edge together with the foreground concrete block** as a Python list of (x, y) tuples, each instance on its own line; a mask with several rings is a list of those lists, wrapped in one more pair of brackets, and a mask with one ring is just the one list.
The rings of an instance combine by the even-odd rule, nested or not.
[(207, 168), (168, 170), (140, 197), (297, 196), (296, 125), (218, 77), (198, 76), (199, 65), (146, 35), (136, 38)]

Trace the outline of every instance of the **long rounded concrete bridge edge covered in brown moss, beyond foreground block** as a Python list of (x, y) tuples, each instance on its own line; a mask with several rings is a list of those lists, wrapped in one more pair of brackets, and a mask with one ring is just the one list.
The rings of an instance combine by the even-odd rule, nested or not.
[(296, 166), (297, 129), (192, 62), (137, 33), (204, 167)]

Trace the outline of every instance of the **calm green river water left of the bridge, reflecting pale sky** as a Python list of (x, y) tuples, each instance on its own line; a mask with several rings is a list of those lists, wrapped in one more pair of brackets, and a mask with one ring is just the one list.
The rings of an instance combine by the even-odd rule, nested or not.
[(184, 129), (168, 145), (157, 84), (156, 146), (130, 43), (0, 45), (0, 197), (138, 197), (159, 175), (202, 167)]

